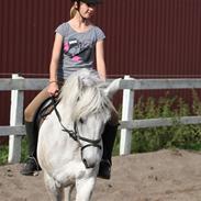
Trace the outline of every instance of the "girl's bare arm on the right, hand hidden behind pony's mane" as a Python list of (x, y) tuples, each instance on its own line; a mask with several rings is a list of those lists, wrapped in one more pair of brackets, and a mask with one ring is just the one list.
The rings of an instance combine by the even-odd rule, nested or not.
[(97, 59), (97, 70), (102, 80), (107, 79), (107, 69), (104, 63), (104, 42), (98, 41), (96, 44), (96, 59)]

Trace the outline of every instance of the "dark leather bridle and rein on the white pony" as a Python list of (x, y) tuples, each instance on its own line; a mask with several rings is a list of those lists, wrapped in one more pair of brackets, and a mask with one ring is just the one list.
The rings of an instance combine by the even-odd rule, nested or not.
[[(77, 122), (74, 123), (74, 130), (68, 130), (68, 129), (62, 123), (60, 114), (59, 114), (59, 112), (58, 112), (58, 110), (57, 110), (57, 108), (56, 108), (56, 105), (57, 105), (58, 103), (56, 102), (56, 100), (55, 100), (54, 97), (52, 97), (52, 102), (53, 102), (53, 108), (54, 108), (54, 111), (55, 111), (55, 113), (56, 113), (56, 116), (57, 116), (57, 119), (58, 119), (58, 121), (59, 121), (59, 123), (60, 123), (60, 125), (62, 125), (62, 127), (63, 127), (62, 131), (68, 133), (68, 135), (69, 135), (74, 141), (76, 141), (76, 142), (79, 144), (79, 146), (80, 146), (80, 148), (81, 148), (81, 159), (82, 159), (82, 161), (83, 161), (86, 168), (89, 168), (88, 165), (87, 165), (87, 161), (86, 161), (86, 160), (83, 159), (83, 157), (82, 157), (82, 155), (83, 155), (82, 152), (83, 152), (85, 148), (90, 147), (90, 146), (98, 147), (99, 149), (101, 149), (102, 146), (100, 145), (100, 142), (102, 141), (102, 138), (100, 137), (100, 138), (98, 138), (98, 139), (90, 139), (90, 138), (86, 138), (86, 137), (80, 136), (80, 135), (79, 135), (79, 132), (78, 132), (78, 129), (77, 129)], [(87, 142), (88, 144), (85, 145), (85, 146), (82, 146), (82, 145), (81, 145), (81, 141)]]

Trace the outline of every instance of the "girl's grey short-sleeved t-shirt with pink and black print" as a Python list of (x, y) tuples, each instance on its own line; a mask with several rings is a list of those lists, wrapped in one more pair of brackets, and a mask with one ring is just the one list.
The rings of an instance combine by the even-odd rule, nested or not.
[(66, 22), (55, 32), (63, 36), (58, 78), (66, 79), (80, 68), (93, 68), (96, 43), (105, 38), (100, 27), (91, 25), (88, 31), (80, 33)]

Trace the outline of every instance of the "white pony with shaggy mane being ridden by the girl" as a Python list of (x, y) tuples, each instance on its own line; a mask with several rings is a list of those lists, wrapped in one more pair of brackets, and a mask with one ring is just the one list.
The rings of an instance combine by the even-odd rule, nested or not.
[(60, 102), (40, 129), (37, 157), (47, 190), (55, 201), (89, 201), (102, 156), (101, 134), (110, 119), (111, 97), (120, 79), (107, 89), (90, 70), (79, 70), (66, 80)]

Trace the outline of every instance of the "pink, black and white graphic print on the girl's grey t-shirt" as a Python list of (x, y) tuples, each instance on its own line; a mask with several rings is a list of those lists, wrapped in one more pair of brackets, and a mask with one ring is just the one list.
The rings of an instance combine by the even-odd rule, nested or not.
[(69, 38), (64, 43), (64, 54), (68, 55), (72, 62), (88, 62), (92, 52), (91, 41), (80, 42), (77, 38)]

